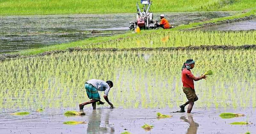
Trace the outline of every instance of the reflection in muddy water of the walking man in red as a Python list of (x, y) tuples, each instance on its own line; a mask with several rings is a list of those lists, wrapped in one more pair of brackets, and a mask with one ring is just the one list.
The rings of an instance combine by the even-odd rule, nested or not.
[(188, 128), (188, 131), (186, 134), (196, 134), (197, 133), (199, 124), (194, 122), (193, 116), (191, 114), (188, 114), (188, 119), (185, 116), (181, 116), (180, 119), (189, 123), (189, 128)]

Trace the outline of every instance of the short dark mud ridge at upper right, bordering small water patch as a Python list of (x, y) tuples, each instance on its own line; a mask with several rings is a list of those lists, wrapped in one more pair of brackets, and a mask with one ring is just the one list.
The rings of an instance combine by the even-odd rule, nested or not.
[(243, 18), (235, 18), (235, 19), (227, 19), (227, 20), (220, 20), (217, 23), (205, 23), (202, 25), (199, 25), (198, 27), (194, 27), (188, 30), (196, 30), (196, 29), (200, 29), (200, 28), (205, 28), (208, 26), (217, 26), (217, 25), (221, 25), (221, 24), (228, 24), (228, 23), (234, 23), (234, 22), (240, 22), (240, 21), (245, 21), (245, 20), (251, 20), (251, 19), (256, 19), (255, 15), (250, 15), (250, 16), (245, 16)]

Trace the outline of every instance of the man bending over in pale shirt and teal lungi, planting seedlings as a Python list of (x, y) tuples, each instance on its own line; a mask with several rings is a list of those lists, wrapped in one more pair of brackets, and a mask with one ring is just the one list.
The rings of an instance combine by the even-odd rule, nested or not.
[(91, 79), (85, 82), (85, 90), (87, 93), (87, 96), (90, 101), (84, 102), (82, 104), (79, 104), (79, 109), (84, 109), (84, 105), (92, 104), (92, 108), (96, 109), (96, 102), (100, 102), (100, 104), (104, 104), (104, 102), (100, 101), (100, 94), (98, 91), (104, 91), (104, 99), (108, 102), (110, 105), (110, 108), (114, 108), (113, 104), (109, 102), (108, 100), (108, 92), (111, 87), (113, 87), (112, 81), (103, 81), (99, 79)]

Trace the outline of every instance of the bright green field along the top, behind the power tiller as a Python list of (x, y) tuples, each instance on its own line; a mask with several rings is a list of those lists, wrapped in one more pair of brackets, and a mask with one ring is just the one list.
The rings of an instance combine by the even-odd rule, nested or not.
[[(0, 15), (136, 12), (139, 0), (0, 0)], [(256, 7), (255, 0), (157, 0), (153, 12), (237, 11)]]

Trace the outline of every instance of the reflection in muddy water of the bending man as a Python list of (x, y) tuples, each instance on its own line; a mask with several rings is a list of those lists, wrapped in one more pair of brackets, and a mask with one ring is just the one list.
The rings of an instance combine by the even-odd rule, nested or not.
[(109, 113), (111, 111), (110, 109), (104, 113), (101, 109), (93, 110), (88, 119), (87, 134), (114, 134), (115, 128), (109, 124)]

